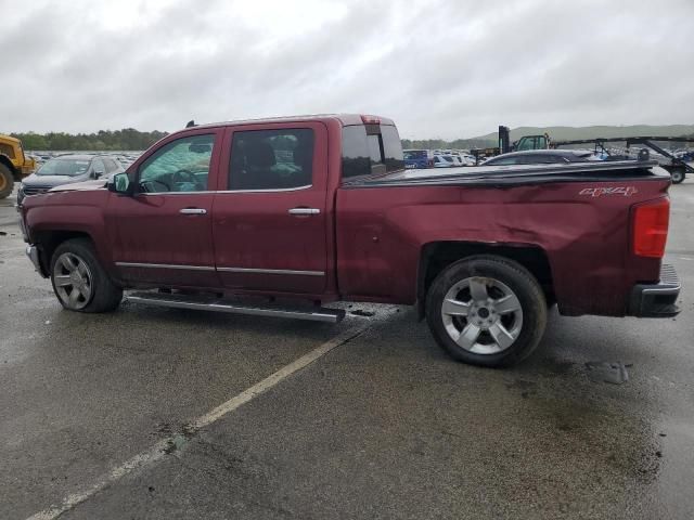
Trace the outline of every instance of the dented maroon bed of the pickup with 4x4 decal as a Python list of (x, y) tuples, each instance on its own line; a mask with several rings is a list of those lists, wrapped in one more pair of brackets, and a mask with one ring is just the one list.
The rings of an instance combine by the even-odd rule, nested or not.
[(567, 315), (625, 315), (635, 284), (657, 282), (660, 259), (631, 251), (634, 205), (667, 197), (655, 161), (397, 171), (337, 193), (340, 291), (413, 302), (421, 255), (436, 244), (471, 251), (536, 251)]

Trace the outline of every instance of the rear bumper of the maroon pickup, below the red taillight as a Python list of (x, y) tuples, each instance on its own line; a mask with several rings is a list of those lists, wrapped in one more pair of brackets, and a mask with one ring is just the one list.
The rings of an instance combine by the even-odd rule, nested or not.
[(680, 296), (680, 278), (672, 265), (660, 266), (660, 282), (638, 284), (631, 289), (629, 299), (630, 316), (672, 317), (680, 313), (676, 301)]

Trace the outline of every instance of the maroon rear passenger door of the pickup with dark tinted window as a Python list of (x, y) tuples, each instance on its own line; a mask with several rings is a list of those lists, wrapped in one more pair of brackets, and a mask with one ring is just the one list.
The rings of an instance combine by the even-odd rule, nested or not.
[(327, 131), (318, 122), (226, 135), (213, 208), (215, 263), (228, 288), (320, 295), (327, 263)]

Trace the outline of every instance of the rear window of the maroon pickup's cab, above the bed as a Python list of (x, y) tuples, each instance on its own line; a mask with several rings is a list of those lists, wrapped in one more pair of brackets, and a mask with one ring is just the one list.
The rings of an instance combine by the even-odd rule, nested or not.
[(343, 179), (404, 168), (400, 135), (390, 125), (343, 128)]

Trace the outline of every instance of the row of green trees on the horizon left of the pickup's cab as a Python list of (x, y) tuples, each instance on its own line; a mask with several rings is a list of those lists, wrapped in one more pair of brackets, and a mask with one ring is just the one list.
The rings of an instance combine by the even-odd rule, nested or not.
[(123, 130), (99, 130), (97, 133), (12, 133), (11, 135), (22, 140), (25, 150), (31, 151), (126, 151), (145, 150), (166, 132), (154, 130), (140, 132), (134, 128)]

